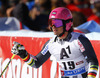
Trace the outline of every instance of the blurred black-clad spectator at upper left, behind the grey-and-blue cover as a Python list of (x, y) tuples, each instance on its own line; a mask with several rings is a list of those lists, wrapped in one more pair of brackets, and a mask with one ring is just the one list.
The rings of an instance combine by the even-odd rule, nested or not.
[(31, 30), (39, 31), (38, 26), (36, 26), (35, 21), (29, 17), (28, 7), (24, 3), (18, 4), (12, 11), (14, 17), (16, 17), (20, 22), (29, 27)]

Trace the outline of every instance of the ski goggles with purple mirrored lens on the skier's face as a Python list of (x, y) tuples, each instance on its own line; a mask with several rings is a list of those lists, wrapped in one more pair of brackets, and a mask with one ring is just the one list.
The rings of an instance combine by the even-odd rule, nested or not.
[(58, 28), (58, 27), (63, 26), (63, 21), (59, 20), (59, 19), (50, 19), (49, 20), (49, 25), (50, 25), (50, 27), (55, 26), (55, 27)]

